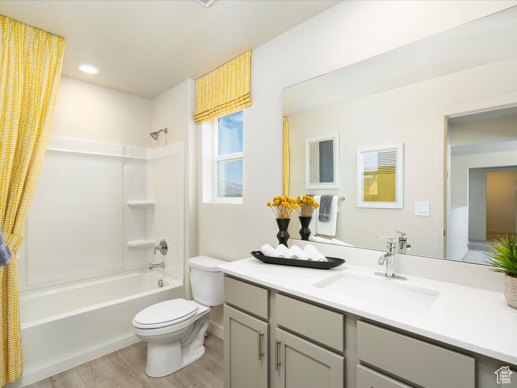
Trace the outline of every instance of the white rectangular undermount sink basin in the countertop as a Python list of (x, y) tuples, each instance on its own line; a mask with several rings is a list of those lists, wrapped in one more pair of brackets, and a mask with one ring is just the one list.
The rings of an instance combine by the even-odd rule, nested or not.
[(404, 285), (397, 279), (339, 274), (314, 284), (327, 291), (359, 300), (423, 315), (440, 294), (438, 291)]

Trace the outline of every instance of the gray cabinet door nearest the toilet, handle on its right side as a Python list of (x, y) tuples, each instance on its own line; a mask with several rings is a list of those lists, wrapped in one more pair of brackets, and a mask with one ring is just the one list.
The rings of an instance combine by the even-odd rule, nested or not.
[(224, 386), (268, 386), (269, 324), (224, 306)]

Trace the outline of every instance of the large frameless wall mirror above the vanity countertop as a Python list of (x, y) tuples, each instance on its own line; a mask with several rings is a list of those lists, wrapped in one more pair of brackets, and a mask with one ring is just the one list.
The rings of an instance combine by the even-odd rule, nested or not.
[[(517, 230), (515, 42), (517, 7), (285, 88), (290, 196), (341, 199), (323, 197), (311, 240), (384, 250), (377, 236), (405, 233), (401, 253), (488, 263)], [(307, 141), (336, 134), (339, 184), (307, 186)]]

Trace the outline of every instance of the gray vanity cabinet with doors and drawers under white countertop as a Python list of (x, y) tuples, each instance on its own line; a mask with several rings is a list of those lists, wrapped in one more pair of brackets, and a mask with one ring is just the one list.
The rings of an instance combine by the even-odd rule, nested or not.
[(507, 365), (229, 275), (224, 299), (225, 387), (484, 388)]

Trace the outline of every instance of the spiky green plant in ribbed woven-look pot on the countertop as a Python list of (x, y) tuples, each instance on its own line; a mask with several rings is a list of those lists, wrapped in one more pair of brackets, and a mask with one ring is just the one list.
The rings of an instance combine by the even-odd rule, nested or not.
[(517, 308), (517, 246), (515, 236), (499, 237), (497, 244), (492, 244), (489, 252), (492, 271), (505, 274), (505, 299), (513, 308)]

